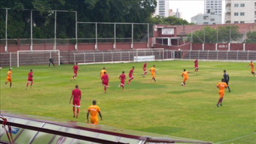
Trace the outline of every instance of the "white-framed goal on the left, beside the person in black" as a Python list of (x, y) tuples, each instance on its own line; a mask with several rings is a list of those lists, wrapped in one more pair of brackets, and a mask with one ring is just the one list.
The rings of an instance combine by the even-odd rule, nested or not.
[(17, 67), (21, 65), (49, 64), (52, 58), (54, 64), (60, 65), (59, 50), (17, 51)]

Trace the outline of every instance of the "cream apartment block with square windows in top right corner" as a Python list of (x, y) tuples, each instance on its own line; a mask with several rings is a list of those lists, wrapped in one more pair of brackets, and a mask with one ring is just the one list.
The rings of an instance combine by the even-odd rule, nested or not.
[(225, 23), (256, 23), (256, 1), (226, 0)]

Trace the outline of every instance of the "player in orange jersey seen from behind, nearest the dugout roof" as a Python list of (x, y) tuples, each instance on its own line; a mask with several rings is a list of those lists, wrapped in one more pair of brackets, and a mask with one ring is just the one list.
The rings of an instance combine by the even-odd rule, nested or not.
[(96, 106), (96, 100), (92, 101), (92, 106), (89, 106), (87, 111), (87, 123), (89, 123), (89, 114), (91, 115), (91, 123), (98, 125), (98, 115), (100, 115), (100, 120), (103, 120), (103, 117), (100, 113), (100, 107)]

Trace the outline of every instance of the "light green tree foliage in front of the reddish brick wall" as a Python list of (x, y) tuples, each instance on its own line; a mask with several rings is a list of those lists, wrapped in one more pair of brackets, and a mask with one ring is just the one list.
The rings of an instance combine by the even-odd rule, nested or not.
[[(242, 34), (238, 32), (238, 26), (220, 26), (217, 29), (209, 26), (200, 31), (193, 32), (193, 43), (229, 43), (241, 40)], [(189, 34), (189, 37), (192, 35)]]

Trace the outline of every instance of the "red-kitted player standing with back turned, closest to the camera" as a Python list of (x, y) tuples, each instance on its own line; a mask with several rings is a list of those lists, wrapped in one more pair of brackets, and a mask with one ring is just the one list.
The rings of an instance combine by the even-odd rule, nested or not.
[[(75, 117), (75, 111), (76, 111), (76, 118), (78, 118), (79, 108), (80, 108), (80, 101), (82, 98), (82, 94), (80, 89), (78, 88), (78, 85), (76, 85), (76, 88), (72, 91), (71, 98), (70, 98), (70, 104), (71, 100), (73, 98), (73, 117)], [(76, 108), (75, 108), (76, 106)]]

